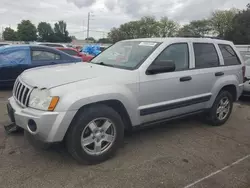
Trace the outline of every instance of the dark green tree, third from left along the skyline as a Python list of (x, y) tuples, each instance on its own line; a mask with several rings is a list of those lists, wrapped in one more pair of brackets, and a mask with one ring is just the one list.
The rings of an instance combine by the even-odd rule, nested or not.
[(50, 42), (54, 37), (54, 31), (49, 23), (40, 22), (37, 26), (38, 39), (42, 42)]

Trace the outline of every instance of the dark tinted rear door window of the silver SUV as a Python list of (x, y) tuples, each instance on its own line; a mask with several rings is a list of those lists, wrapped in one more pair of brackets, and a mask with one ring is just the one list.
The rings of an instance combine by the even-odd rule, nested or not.
[(219, 57), (213, 44), (194, 43), (195, 68), (219, 66)]

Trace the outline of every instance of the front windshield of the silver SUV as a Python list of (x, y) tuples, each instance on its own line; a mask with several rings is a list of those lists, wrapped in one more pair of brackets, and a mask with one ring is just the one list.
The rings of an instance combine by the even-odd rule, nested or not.
[(91, 63), (135, 69), (158, 45), (157, 42), (121, 41), (104, 50)]

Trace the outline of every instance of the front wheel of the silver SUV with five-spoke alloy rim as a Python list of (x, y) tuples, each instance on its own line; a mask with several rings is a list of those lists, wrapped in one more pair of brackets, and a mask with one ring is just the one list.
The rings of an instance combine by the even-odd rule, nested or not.
[[(93, 122), (94, 126), (92, 126)], [(108, 122), (107, 124), (111, 123), (106, 131), (103, 128), (105, 124), (104, 122)], [(103, 130), (99, 130), (99, 132), (96, 131), (97, 129), (101, 128), (103, 128)], [(102, 137), (109, 134), (107, 133), (107, 131), (110, 131), (110, 135), (112, 135), (112, 130), (115, 134), (112, 137), (112, 143), (109, 144), (105, 140), (103, 140)], [(99, 133), (103, 135), (100, 137)], [(87, 134), (87, 136), (85, 134)], [(120, 115), (113, 108), (98, 104), (87, 107), (78, 112), (67, 132), (66, 146), (69, 153), (79, 163), (97, 164), (109, 159), (115, 154), (117, 149), (123, 143), (123, 137), (124, 125)], [(91, 139), (91, 144), (82, 146), (82, 143), (84, 143), (82, 139), (86, 138)], [(98, 140), (98, 138), (100, 140)], [(105, 146), (106, 150), (100, 151), (99, 149), (98, 152), (96, 152), (96, 149), (96, 151), (94, 151), (94, 148), (97, 148), (98, 143), (101, 143), (101, 148), (103, 145), (107, 144), (107, 146)]]

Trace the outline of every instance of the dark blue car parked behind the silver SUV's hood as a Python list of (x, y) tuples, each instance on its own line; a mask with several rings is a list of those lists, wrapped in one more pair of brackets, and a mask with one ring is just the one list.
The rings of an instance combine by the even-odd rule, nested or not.
[(81, 58), (46, 46), (2, 46), (0, 47), (0, 88), (13, 86), (16, 78), (26, 69), (81, 61)]

